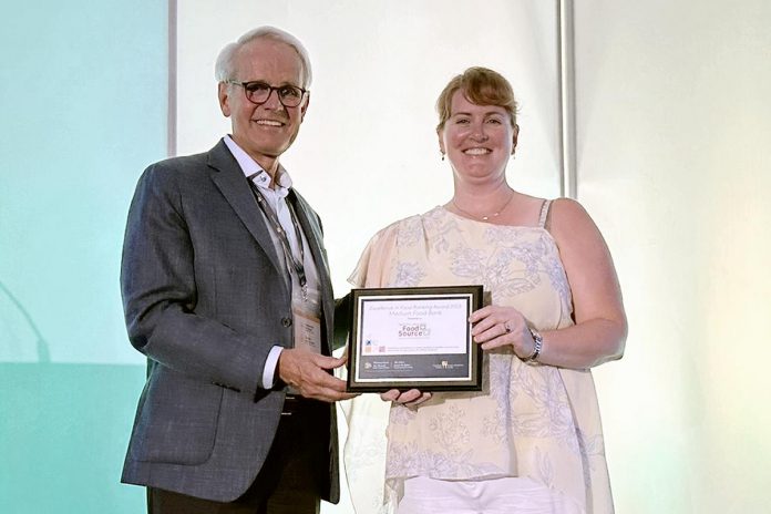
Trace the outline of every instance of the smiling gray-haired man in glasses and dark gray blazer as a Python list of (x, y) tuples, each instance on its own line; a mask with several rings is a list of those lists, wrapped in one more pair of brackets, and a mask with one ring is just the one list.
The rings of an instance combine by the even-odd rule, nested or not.
[(150, 513), (318, 513), (339, 498), (333, 297), (316, 213), (279, 164), (308, 110), (301, 43), (259, 28), (217, 59), (233, 134), (151, 165), (121, 284), (147, 356), (123, 482)]

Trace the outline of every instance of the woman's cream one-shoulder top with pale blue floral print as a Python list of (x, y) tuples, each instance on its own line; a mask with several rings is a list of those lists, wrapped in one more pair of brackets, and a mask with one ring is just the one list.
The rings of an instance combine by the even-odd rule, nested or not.
[[(547, 210), (545, 203), (539, 226), (524, 227), (475, 222), (435, 207), (380, 230), (350, 281), (357, 287), (482, 284), (493, 304), (516, 308), (538, 330), (567, 327), (570, 289), (556, 243), (544, 228)], [(418, 409), (394, 404), (387, 441), (377, 428), (383, 413), (377, 402), (377, 395), (360, 397), (348, 412), (345, 460), (358, 512), (389, 512), (388, 503), (398, 501), (403, 481), (412, 476), (528, 477), (548, 487), (555, 504), (569, 506), (555, 512), (613, 512), (589, 370), (527, 364), (511, 347), (486, 351), (482, 392), (434, 393)], [(363, 479), (380, 473), (384, 491)]]

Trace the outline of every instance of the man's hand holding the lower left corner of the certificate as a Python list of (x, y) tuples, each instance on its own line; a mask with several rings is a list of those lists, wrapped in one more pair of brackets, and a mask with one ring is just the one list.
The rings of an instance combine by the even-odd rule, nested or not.
[(349, 400), (357, 394), (346, 392), (346, 382), (329, 374), (347, 361), (311, 353), (306, 350), (285, 349), (278, 358), (278, 376), (302, 397), (326, 402)]

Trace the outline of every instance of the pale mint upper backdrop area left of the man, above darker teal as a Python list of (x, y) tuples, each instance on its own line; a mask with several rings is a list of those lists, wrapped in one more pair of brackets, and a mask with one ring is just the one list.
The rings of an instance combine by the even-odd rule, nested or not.
[[(134, 185), (166, 152), (166, 9), (33, 0), (0, 17), (0, 284), (53, 361), (140, 362), (117, 274)], [(6, 291), (0, 361), (34, 360)]]

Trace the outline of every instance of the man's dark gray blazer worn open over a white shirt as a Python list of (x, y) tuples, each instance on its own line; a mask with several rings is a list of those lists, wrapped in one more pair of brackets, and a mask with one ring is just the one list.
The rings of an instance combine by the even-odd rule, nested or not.
[[(292, 191), (319, 271), (323, 352), (333, 296), (318, 215)], [(147, 356), (122, 481), (227, 502), (254, 482), (285, 392), (261, 388), (274, 345), (292, 345), (291, 295), (263, 214), (224, 142), (151, 165), (128, 212), (121, 286), (131, 343)], [(339, 498), (335, 407), (327, 501)], [(328, 421), (328, 422), (327, 422)]]

